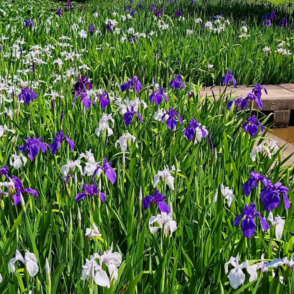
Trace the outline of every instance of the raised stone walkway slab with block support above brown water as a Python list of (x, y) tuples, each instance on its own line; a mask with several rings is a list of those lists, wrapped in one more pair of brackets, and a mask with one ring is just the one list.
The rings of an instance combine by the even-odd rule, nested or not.
[[(262, 93), (261, 100), (263, 102), (263, 111), (273, 112), (273, 123), (276, 126), (288, 126), (290, 120), (290, 110), (294, 110), (294, 84), (279, 84), (279, 85), (263, 85), (268, 95)], [(232, 96), (246, 97), (254, 86), (228, 86), (226, 93)], [(223, 93), (224, 86), (203, 87), (200, 91), (202, 97), (211, 96), (211, 90), (216, 95)]]

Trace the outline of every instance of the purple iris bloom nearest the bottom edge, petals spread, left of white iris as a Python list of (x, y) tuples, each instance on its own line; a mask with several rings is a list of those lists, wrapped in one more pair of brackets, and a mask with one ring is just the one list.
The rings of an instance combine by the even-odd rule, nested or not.
[[(242, 220), (244, 216), (245, 218)], [(251, 238), (256, 232), (256, 223), (254, 222), (254, 218), (256, 216), (260, 219), (261, 226), (266, 232), (270, 228), (270, 225), (256, 210), (255, 204), (253, 204), (252, 202), (250, 202), (249, 206), (245, 203), (243, 213), (235, 218), (233, 226), (236, 227), (240, 223), (240, 220), (242, 220), (241, 229), (243, 231), (243, 235), (246, 238)]]

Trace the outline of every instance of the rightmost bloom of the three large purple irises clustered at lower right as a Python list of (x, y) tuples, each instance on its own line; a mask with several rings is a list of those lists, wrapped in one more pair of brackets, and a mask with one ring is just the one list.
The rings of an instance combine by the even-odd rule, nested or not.
[(259, 197), (266, 211), (271, 211), (279, 206), (281, 202), (280, 193), (282, 193), (284, 198), (285, 210), (290, 208), (290, 202), (287, 196), (287, 193), (290, 190), (289, 188), (282, 186), (281, 182), (277, 182), (273, 185), (271, 181), (267, 181), (264, 186), (265, 187), (260, 192)]

